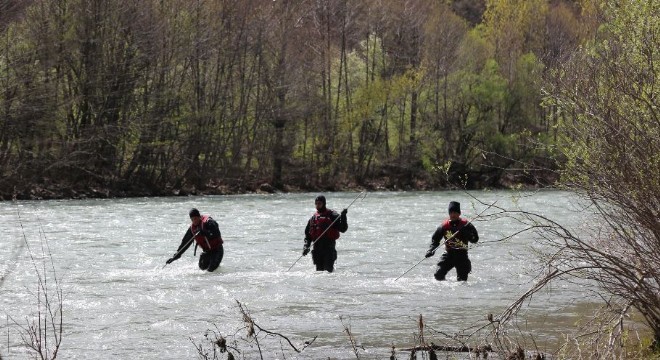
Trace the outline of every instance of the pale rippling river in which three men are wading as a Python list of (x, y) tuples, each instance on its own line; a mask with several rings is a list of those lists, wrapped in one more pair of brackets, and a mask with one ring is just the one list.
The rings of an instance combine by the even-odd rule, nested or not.
[[(469, 194), (485, 203), (497, 200), (498, 206), (542, 213), (567, 227), (582, 217), (569, 193)], [(392, 345), (415, 345), (420, 314), (427, 329), (435, 331), (427, 340), (442, 343), (440, 332), (451, 335), (485, 324), (489, 313), (501, 312), (533, 283), (532, 270), (539, 264), (531, 253), (533, 236), (498, 242), (516, 230), (504, 219), (475, 221), (480, 243), (470, 250), (473, 270), (467, 283), (457, 282), (454, 270), (447, 281), (434, 280), (442, 251), (396, 280), (424, 257), (450, 200), (461, 202), (468, 219), (485, 208), (460, 191), (369, 193), (348, 210), (349, 229), (338, 240), (334, 273), (314, 271), (311, 256), (287, 271), (301, 255), (316, 195), (0, 203), (0, 309), (5, 313), (0, 355), (25, 357), (17, 324), (25, 325), (38, 308), (35, 266), (49, 286), (54, 283), (50, 260), (63, 293), (58, 354), (63, 359), (196, 358), (195, 344), (206, 344), (209, 329), (229, 340), (245, 335), (237, 302), (256, 324), (287, 336), (297, 347), (316, 337), (300, 354), (278, 338), (262, 338), (266, 359), (355, 359), (345, 327), (360, 358), (386, 359)], [(341, 210), (357, 193), (325, 195), (329, 208)], [(192, 207), (220, 224), (225, 257), (213, 273), (197, 268), (199, 253), (193, 257), (192, 248), (163, 268), (189, 225)], [(576, 290), (552, 287), (526, 308), (527, 330), (541, 349), (552, 348), (562, 330), (590, 308)], [(51, 290), (53, 302), (55, 295)], [(254, 345), (238, 345), (246, 358), (258, 358)]]

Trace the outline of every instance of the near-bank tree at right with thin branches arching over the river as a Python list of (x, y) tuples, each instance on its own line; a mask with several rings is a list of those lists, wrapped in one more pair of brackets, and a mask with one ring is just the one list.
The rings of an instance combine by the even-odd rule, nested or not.
[(522, 214), (532, 228), (546, 229), (552, 249), (546, 275), (523, 298), (558, 278), (597, 285), (609, 317), (576, 340), (591, 340), (597, 356), (608, 357), (625, 351), (631, 309), (660, 345), (660, 3), (597, 5), (604, 23), (558, 70), (549, 99), (562, 120), (561, 183), (586, 202), (593, 220), (575, 233)]

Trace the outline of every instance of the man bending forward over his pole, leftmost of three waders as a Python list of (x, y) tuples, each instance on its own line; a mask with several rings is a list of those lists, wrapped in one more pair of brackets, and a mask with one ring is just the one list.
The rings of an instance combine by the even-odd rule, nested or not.
[(181, 239), (181, 245), (179, 245), (176, 254), (169, 258), (165, 265), (180, 258), (181, 254), (188, 250), (194, 237), (195, 253), (197, 252), (197, 246), (202, 248), (202, 254), (199, 255), (199, 268), (214, 271), (220, 266), (222, 256), (225, 253), (218, 223), (208, 215), (200, 215), (199, 210), (195, 208), (191, 209), (188, 215), (190, 216), (190, 227)]

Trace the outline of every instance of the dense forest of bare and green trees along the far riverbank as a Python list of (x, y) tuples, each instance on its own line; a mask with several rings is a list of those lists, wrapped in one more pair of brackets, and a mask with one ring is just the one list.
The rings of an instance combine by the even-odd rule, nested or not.
[(596, 1), (5, 0), (0, 197), (548, 186)]

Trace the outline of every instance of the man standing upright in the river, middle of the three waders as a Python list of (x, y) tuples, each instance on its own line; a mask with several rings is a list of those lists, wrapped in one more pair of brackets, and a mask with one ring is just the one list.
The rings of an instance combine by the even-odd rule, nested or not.
[(341, 215), (336, 211), (325, 207), (325, 196), (319, 195), (314, 200), (316, 212), (307, 222), (305, 227), (305, 245), (303, 247), (303, 256), (307, 255), (312, 242), (312, 260), (316, 265), (316, 271), (333, 272), (335, 269), (335, 260), (337, 260), (337, 250), (335, 241), (339, 239), (339, 233), (346, 232), (348, 222), (346, 221), (347, 209), (341, 211)]

